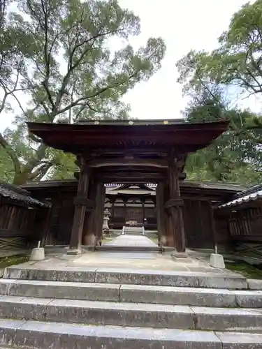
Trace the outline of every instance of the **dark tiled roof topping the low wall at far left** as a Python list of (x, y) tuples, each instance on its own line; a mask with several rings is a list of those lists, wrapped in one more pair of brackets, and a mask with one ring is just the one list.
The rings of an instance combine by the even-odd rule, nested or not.
[(23, 202), (28, 207), (49, 207), (50, 204), (48, 202), (41, 202), (34, 198), (31, 198), (28, 191), (19, 188), (17, 186), (13, 186), (12, 184), (6, 184), (0, 182), (0, 196), (3, 198), (8, 198), (13, 200), (14, 202)]

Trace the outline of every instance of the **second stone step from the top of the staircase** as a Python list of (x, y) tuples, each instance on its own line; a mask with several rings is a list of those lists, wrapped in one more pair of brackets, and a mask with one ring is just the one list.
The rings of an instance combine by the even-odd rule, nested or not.
[(0, 279), (0, 295), (105, 302), (262, 308), (262, 292), (113, 283)]

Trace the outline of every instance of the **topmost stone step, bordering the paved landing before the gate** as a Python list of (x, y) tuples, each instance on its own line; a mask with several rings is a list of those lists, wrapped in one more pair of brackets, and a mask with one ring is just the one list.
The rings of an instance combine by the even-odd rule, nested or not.
[(8, 267), (3, 273), (6, 279), (74, 281), (87, 283), (117, 283), (135, 285), (162, 285), (197, 288), (247, 289), (245, 277), (228, 272), (166, 272), (158, 270), (114, 269), (105, 267), (66, 267), (64, 269), (36, 269), (33, 265)]

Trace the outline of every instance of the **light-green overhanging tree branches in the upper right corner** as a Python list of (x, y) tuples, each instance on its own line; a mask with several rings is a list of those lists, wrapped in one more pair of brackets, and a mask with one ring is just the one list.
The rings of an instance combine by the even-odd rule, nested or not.
[(242, 93), (262, 92), (262, 0), (246, 3), (233, 15), (212, 52), (189, 52), (177, 62), (185, 90), (200, 84), (226, 84)]

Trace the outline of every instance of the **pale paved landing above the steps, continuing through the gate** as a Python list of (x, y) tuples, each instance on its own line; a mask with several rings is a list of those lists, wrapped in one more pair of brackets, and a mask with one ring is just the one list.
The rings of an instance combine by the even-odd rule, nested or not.
[[(112, 242), (111, 246), (155, 246), (154, 242), (145, 236), (121, 235)], [(214, 269), (208, 262), (200, 260), (199, 256), (190, 252), (189, 258), (174, 260), (171, 253), (159, 253), (148, 251), (86, 251), (80, 255), (67, 255), (68, 247), (46, 248), (46, 258), (40, 262), (28, 262), (28, 266), (38, 269), (77, 268), (77, 267), (109, 267), (114, 269), (134, 270), (163, 270), (184, 272), (219, 272), (225, 270)], [(208, 260), (208, 258), (207, 258)], [(26, 265), (25, 265), (26, 267)], [(228, 271), (226, 271), (228, 273)]]

